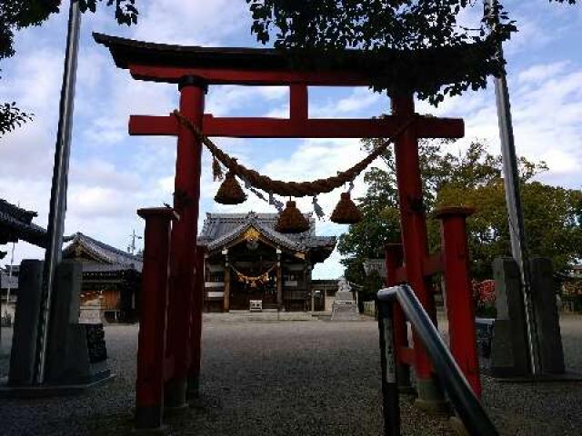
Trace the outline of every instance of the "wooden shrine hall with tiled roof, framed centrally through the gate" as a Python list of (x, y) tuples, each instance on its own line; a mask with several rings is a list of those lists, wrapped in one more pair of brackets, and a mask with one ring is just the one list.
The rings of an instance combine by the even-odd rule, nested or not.
[(198, 246), (206, 249), (206, 312), (311, 308), (311, 272), (336, 247), (336, 237), (317, 236), (316, 220), (306, 215), (305, 233), (275, 230), (276, 213), (206, 213)]

